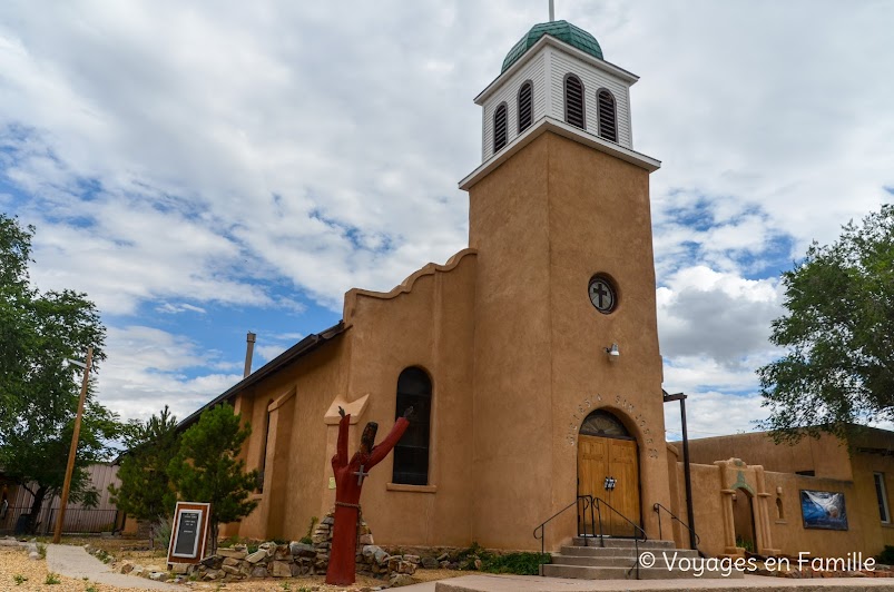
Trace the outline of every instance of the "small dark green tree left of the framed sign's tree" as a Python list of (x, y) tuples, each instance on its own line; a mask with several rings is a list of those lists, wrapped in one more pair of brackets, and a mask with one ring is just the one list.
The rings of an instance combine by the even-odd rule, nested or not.
[(174, 513), (176, 495), (168, 477), (168, 465), (177, 454), (177, 418), (167, 405), (146, 422), (131, 420), (124, 430), (127, 452), (118, 468), (120, 486), (109, 485), (111, 502), (118, 510), (157, 525)]

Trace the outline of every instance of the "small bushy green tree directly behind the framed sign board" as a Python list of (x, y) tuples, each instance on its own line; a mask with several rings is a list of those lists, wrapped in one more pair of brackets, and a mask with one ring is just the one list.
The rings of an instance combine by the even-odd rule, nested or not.
[(257, 506), (248, 500), (257, 471), (246, 473), (245, 462), (238, 458), (250, 434), (250, 425), (243, 425), (230, 405), (206, 410), (180, 437), (180, 450), (168, 467), (181, 501), (212, 504), (212, 552), (217, 546), (219, 525), (240, 520)]

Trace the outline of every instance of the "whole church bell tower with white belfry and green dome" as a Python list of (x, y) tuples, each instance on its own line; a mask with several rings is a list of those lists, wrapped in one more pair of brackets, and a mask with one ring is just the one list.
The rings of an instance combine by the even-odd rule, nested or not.
[[(649, 205), (660, 162), (633, 150), (636, 81), (593, 36), (550, 21), (475, 98), (482, 164), (460, 188), (478, 250), (472, 535), (484, 546), (529, 547), (519, 525), (601, 490), (603, 472), (618, 482), (610, 503), (650, 536), (652, 504), (669, 501)], [(607, 417), (626, 447), (615, 457), (606, 440), (590, 465), (582, 446), (602, 445)], [(580, 534), (561, 520), (548, 546)]]

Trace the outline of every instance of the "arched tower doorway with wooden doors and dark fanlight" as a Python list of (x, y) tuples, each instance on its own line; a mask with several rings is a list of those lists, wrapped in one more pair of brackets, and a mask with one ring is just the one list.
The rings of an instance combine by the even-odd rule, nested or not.
[[(602, 534), (636, 536), (636, 529), (618, 513), (641, 526), (639, 455), (637, 441), (623, 423), (606, 410), (589, 414), (578, 434), (578, 495), (592, 495), (617, 512), (602, 512)], [(595, 534), (589, 519), (579, 534)], [(596, 526), (597, 531), (599, 525)]]

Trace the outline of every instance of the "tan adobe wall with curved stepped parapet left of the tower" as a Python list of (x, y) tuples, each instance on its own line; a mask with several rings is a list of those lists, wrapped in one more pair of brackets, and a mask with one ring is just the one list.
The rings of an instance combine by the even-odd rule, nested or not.
[[(351, 290), (345, 323), (351, 325), (348, 401), (370, 394), (369, 407), (354, 430), (379, 422), (383, 438), (395, 421), (396, 386), (410, 366), (432, 377), (429, 485), (392, 484), (393, 455), (364, 482), (363, 515), (377, 542), (390, 545), (466, 545), (471, 542), (472, 367), (477, 256), (472, 249), (445, 265), (429, 264), (389, 294)], [(328, 427), (328, 458), (337, 427)], [(332, 474), (328, 464), (323, 468)], [(325, 513), (334, 501), (328, 491)]]

